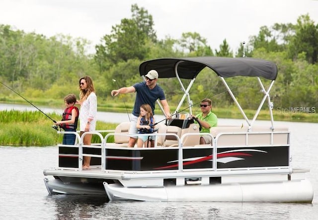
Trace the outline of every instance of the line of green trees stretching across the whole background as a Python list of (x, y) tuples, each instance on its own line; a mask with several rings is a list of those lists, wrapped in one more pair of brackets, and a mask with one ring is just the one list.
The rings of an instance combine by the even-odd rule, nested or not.
[[(79, 94), (79, 78), (94, 80), (99, 104), (113, 102), (110, 91), (141, 80), (141, 62), (161, 57), (242, 56), (243, 47), (233, 52), (227, 40), (212, 49), (196, 32), (182, 33), (179, 39), (158, 39), (153, 16), (144, 7), (131, 5), (131, 17), (114, 24), (89, 54), (90, 42), (82, 38), (56, 35), (46, 37), (25, 33), (0, 24), (0, 80), (29, 98), (63, 99), (69, 93)], [(262, 26), (258, 35), (250, 36), (244, 55), (271, 60), (278, 66), (278, 77), (271, 91), (276, 107), (317, 107), (318, 103), (318, 24), (308, 14), (295, 24)], [(224, 87), (212, 70), (203, 70), (190, 91), (194, 103), (202, 98), (214, 100), (216, 107), (233, 105), (223, 93)], [(208, 77), (207, 77), (208, 75)], [(115, 79), (115, 80), (114, 80)], [(230, 87), (242, 108), (254, 109), (260, 88), (251, 86), (250, 78), (229, 79)], [(238, 83), (239, 82), (239, 83)], [(186, 80), (184, 80), (186, 84)], [(169, 103), (177, 102), (182, 91), (173, 79), (159, 80)], [(255, 84), (256, 85), (256, 84)], [(0, 101), (10, 96), (0, 87)], [(123, 96), (128, 105), (131, 96)], [(117, 100), (120, 102), (119, 100)]]

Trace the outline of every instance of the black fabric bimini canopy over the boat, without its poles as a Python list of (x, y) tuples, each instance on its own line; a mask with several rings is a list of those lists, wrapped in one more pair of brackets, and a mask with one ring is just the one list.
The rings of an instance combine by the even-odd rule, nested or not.
[[(177, 68), (176, 68), (177, 66)], [(181, 79), (193, 79), (199, 72), (209, 67), (219, 76), (261, 76), (275, 80), (277, 66), (275, 63), (263, 59), (247, 57), (183, 57), (183, 58), (159, 58), (148, 60), (140, 64), (140, 75), (146, 75), (148, 71), (155, 69), (159, 78), (172, 78), (175, 76), (175, 68)]]

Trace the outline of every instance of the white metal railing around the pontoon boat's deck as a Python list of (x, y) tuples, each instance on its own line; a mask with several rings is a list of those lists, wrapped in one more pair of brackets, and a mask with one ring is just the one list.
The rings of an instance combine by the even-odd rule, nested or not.
[[(227, 149), (227, 151), (231, 151), (232, 149), (235, 150), (235, 148), (242, 148), (242, 150), (244, 149), (249, 149), (249, 148), (257, 148), (258, 151), (262, 151), (263, 148), (270, 148), (270, 147), (287, 147), (286, 149), (288, 150), (288, 156), (290, 155), (290, 149), (289, 149), (289, 135), (290, 132), (289, 131), (258, 131), (258, 132), (220, 132), (218, 133), (215, 137), (210, 134), (210, 133), (185, 133), (183, 134), (181, 137), (179, 137), (178, 135), (174, 134), (174, 133), (152, 133), (152, 134), (138, 134), (141, 136), (155, 136), (155, 148), (127, 148), (127, 147), (122, 147), (121, 145), (116, 145), (116, 143), (110, 143), (107, 142), (108, 138), (110, 136), (115, 136), (115, 135), (121, 135), (121, 136), (131, 136), (131, 134), (123, 134), (123, 133), (112, 133), (112, 130), (106, 130), (105, 132), (107, 132), (107, 134), (103, 137), (103, 135), (100, 133), (100, 131), (95, 131), (95, 132), (85, 132), (83, 133), (83, 135), (81, 137), (79, 137), (79, 134), (77, 135), (77, 141), (78, 143), (74, 146), (74, 145), (59, 145), (59, 146), (64, 146), (64, 147), (78, 147), (78, 158), (79, 158), (79, 167), (77, 168), (78, 170), (82, 170), (81, 164), (82, 164), (82, 160), (83, 157), (94, 157), (94, 158), (100, 158), (100, 165), (97, 165), (96, 167), (100, 167), (102, 172), (105, 171), (109, 171), (110, 169), (107, 169), (106, 167), (106, 161), (109, 158), (110, 155), (107, 155), (107, 149), (130, 149), (130, 150), (152, 150), (152, 149), (158, 149), (158, 150), (164, 150), (164, 149), (178, 149), (178, 155), (177, 155), (177, 159), (178, 159), (178, 168), (174, 169), (174, 170), (161, 170), (158, 172), (184, 172), (184, 171), (191, 171), (193, 169), (186, 169), (184, 170), (183, 167), (183, 150), (186, 149), (191, 149), (191, 148), (204, 148), (204, 149), (209, 149), (211, 148), (211, 161), (213, 162), (211, 167), (207, 167), (204, 168), (202, 170), (211, 170), (211, 171), (217, 171), (217, 170), (236, 170), (236, 169), (246, 169), (246, 170), (250, 170), (250, 169), (288, 169), (290, 168), (290, 160), (291, 158), (289, 158), (288, 164), (284, 164), (281, 166), (274, 166), (274, 167), (230, 167), (230, 168), (223, 168), (223, 167), (218, 167), (218, 154), (220, 153), (219, 150), (222, 149)], [(108, 133), (111, 132), (111, 133)], [(76, 133), (76, 132), (59, 132), (59, 133)], [(93, 135), (97, 135), (99, 136), (100, 139), (100, 143), (92, 143), (91, 145), (83, 145), (83, 138), (85, 137), (85, 135), (87, 134), (93, 134)], [(159, 136), (173, 136), (176, 141), (177, 141), (177, 146), (174, 147), (168, 147), (168, 146), (158, 146), (157, 145), (157, 138), (159, 138)], [(191, 137), (191, 136), (198, 136), (198, 135), (210, 135), (212, 138), (212, 144), (211, 145), (195, 145), (195, 146), (184, 146), (183, 142), (187, 137)], [(90, 153), (84, 153), (83, 152), (83, 148), (95, 148), (95, 149), (100, 149), (100, 153), (99, 154), (90, 154)], [(287, 151), (286, 150), (286, 151)], [(255, 150), (254, 150), (255, 151)], [(222, 152), (221, 152), (222, 153)], [(286, 153), (287, 155), (287, 153)], [(114, 157), (114, 155), (112, 155), (111, 157)], [(284, 156), (286, 159), (286, 156)], [(289, 156), (290, 157), (290, 156)], [(200, 169), (198, 169), (200, 170)], [(138, 170), (112, 170), (112, 171), (118, 171), (118, 172), (147, 172), (147, 170), (145, 171), (138, 171)], [(153, 170), (148, 170), (149, 171), (153, 171)], [(157, 171), (155, 171), (157, 172)]]

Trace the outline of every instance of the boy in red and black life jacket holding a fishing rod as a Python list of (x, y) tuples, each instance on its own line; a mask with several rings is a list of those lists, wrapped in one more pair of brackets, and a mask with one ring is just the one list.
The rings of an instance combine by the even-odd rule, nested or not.
[[(57, 121), (55, 124), (59, 125), (65, 131), (74, 131), (78, 127), (79, 109), (75, 107), (76, 96), (69, 94), (64, 98), (66, 109), (63, 112), (63, 118), (61, 121)], [(76, 140), (75, 134), (64, 134), (63, 144), (74, 145)]]

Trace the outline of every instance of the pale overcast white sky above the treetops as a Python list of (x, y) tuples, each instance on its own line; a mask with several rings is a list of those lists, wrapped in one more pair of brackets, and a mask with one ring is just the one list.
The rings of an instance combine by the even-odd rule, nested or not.
[(226, 39), (237, 51), (261, 26), (296, 24), (304, 14), (318, 24), (318, 0), (0, 0), (0, 24), (95, 45), (121, 19), (131, 18), (135, 3), (153, 16), (158, 39), (197, 32), (213, 50)]

